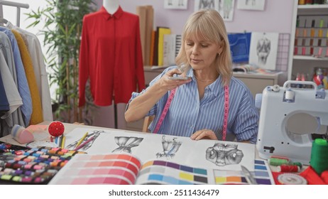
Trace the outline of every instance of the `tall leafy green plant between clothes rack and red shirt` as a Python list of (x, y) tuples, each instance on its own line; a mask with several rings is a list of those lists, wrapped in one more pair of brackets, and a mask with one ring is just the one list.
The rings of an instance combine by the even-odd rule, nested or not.
[[(82, 19), (85, 14), (95, 11), (95, 3), (92, 0), (47, 2), (45, 8), (39, 7), (27, 15), (33, 19), (29, 26), (45, 21), (40, 34), (44, 36), (43, 44), (48, 47), (45, 64), (50, 86), (55, 86), (55, 97), (52, 99), (54, 119), (91, 124), (92, 119), (87, 115), (94, 106), (89, 102), (84, 108), (79, 108), (77, 101)], [(91, 94), (87, 97), (91, 99)]]

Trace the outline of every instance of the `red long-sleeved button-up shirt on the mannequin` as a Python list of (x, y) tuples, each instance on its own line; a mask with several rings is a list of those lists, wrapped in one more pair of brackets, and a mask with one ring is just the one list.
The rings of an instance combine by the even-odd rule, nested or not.
[(94, 104), (127, 103), (131, 93), (145, 88), (139, 18), (119, 7), (115, 14), (102, 8), (83, 18), (80, 46), (79, 107), (85, 103), (86, 82)]

